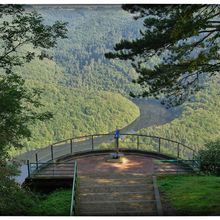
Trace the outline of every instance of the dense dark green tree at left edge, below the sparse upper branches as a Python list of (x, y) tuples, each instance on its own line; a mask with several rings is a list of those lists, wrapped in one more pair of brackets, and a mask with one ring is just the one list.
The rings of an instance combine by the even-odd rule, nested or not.
[(41, 106), (40, 90), (27, 91), (25, 81), (16, 74), (2, 76), (0, 80), (0, 158), (7, 157), (10, 145), (22, 147), (21, 138), (31, 137), (28, 125), (36, 120), (47, 120), (50, 112), (37, 113)]

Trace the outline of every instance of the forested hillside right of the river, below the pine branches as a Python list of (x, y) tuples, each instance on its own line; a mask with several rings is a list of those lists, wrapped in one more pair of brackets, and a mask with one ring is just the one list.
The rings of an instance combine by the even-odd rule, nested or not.
[(183, 105), (181, 116), (172, 122), (140, 131), (178, 140), (195, 149), (220, 138), (220, 76), (206, 82), (206, 89), (195, 95), (194, 102)]

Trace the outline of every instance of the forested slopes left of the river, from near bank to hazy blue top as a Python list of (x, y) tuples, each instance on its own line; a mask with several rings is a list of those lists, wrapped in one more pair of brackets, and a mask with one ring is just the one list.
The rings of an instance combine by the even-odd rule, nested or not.
[[(136, 37), (138, 27), (120, 6), (76, 7), (30, 6), (45, 23), (67, 21), (68, 38), (58, 42), (53, 60), (33, 60), (14, 71), (23, 76), (28, 88), (43, 89), (39, 111), (54, 114), (48, 122), (30, 125), (32, 138), (25, 148), (124, 127), (139, 115), (139, 109), (122, 97), (138, 89), (131, 83), (135, 72), (123, 62), (108, 61), (104, 53), (124, 36)], [(27, 47), (28, 48), (28, 47)], [(117, 93), (119, 92), (119, 93)], [(114, 119), (114, 120), (113, 120)]]

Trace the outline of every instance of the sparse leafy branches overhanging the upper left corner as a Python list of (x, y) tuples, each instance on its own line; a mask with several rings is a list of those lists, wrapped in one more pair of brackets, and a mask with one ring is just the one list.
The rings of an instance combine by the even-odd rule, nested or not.
[[(42, 49), (50, 49), (56, 46), (58, 38), (67, 37), (66, 22), (45, 25), (40, 14), (36, 11), (25, 12), (21, 5), (1, 5), (0, 19), (0, 67), (6, 73), (35, 57), (48, 57)], [(24, 46), (31, 48), (21, 50)], [(39, 53), (35, 49), (40, 50)]]

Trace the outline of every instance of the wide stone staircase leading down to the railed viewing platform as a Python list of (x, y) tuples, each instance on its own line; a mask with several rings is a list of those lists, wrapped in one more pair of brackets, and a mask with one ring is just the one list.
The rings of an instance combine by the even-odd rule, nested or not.
[(79, 216), (146, 216), (162, 213), (152, 176), (99, 172), (79, 175), (78, 178)]

